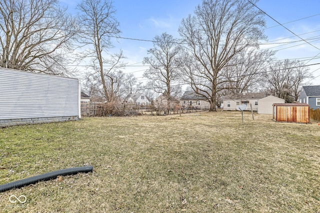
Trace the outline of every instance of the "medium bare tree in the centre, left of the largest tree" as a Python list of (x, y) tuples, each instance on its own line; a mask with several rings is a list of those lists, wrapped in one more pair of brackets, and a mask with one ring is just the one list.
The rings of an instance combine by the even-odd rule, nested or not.
[(172, 96), (179, 91), (179, 87), (172, 86), (172, 83), (179, 79), (175, 58), (181, 46), (177, 41), (167, 33), (157, 35), (154, 37), (153, 48), (147, 50), (150, 56), (143, 58), (143, 63), (150, 65), (149, 69), (143, 73), (143, 76), (149, 79), (147, 86), (165, 96), (168, 100), (168, 108)]

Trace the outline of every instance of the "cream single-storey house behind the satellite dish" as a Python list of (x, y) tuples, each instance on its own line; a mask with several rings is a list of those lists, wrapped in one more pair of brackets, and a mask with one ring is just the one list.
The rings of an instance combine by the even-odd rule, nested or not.
[(236, 110), (236, 106), (241, 104), (246, 104), (246, 110), (251, 110), (251, 103), (252, 110), (257, 111), (258, 100), (263, 97), (265, 97), (264, 92), (243, 92), (240, 94), (225, 95), (223, 97), (223, 110)]

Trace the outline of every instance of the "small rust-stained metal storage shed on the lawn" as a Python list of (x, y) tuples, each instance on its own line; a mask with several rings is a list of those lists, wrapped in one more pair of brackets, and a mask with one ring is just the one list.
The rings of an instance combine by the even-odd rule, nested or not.
[(273, 120), (277, 122), (309, 122), (309, 104), (273, 103)]

